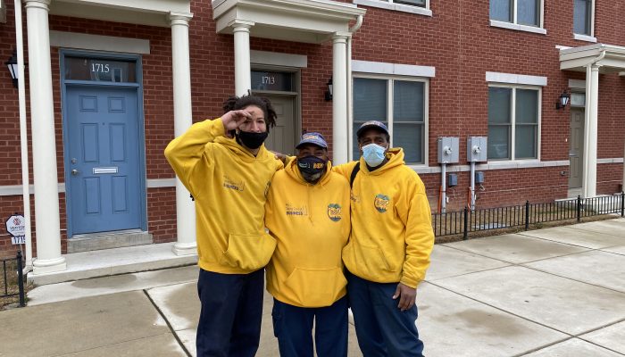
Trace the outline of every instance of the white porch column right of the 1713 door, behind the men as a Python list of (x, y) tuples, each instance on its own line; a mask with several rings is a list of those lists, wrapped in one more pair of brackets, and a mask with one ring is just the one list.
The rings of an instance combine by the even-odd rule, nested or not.
[(347, 38), (335, 33), (332, 37), (332, 164), (347, 162)]

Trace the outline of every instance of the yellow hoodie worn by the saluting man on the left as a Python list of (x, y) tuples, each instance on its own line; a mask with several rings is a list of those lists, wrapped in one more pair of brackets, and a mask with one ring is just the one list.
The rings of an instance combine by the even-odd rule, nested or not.
[(276, 245), (263, 225), (265, 197), (282, 162), (264, 145), (254, 157), (224, 137), (221, 119), (194, 124), (165, 157), (196, 200), (200, 268), (246, 274), (264, 267)]

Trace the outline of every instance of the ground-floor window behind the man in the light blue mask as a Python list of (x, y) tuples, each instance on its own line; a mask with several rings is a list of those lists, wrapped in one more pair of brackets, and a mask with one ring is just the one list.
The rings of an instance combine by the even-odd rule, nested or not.
[[(425, 163), (427, 82), (418, 79), (354, 78), (354, 133), (367, 120), (384, 122), (391, 147), (404, 148), (408, 163)], [(360, 157), (354, 138), (353, 158)]]

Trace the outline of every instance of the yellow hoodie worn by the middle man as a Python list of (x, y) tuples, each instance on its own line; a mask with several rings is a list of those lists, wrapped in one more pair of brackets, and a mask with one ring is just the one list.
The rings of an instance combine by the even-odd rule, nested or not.
[(328, 170), (307, 183), (296, 160), (273, 177), (265, 225), (278, 241), (267, 291), (282, 303), (329, 306), (346, 295), (341, 250), (349, 237), (349, 183)]

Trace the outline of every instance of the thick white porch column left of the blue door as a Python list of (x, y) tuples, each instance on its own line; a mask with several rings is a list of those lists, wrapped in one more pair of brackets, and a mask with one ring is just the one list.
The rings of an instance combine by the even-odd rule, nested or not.
[(34, 274), (65, 270), (61, 255), (61, 224), (56, 172), (56, 137), (50, 64), (48, 5), (50, 0), (26, 0), (29, 40), (30, 120), (35, 181), (37, 260)]

